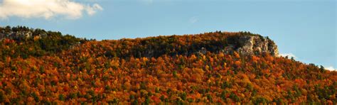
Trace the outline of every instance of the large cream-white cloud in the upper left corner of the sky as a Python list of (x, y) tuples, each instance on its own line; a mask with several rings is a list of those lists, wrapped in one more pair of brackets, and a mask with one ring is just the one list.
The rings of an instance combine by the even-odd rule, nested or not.
[(11, 16), (46, 19), (65, 16), (76, 19), (82, 17), (84, 11), (92, 16), (102, 10), (99, 4), (85, 6), (72, 0), (3, 0), (0, 3), (0, 19)]

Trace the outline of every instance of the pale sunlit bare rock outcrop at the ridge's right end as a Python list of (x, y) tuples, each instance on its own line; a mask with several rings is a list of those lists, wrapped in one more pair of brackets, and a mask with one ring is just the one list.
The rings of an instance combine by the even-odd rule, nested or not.
[(274, 56), (279, 55), (277, 45), (269, 38), (253, 35), (242, 36), (238, 43), (241, 47), (237, 48), (236, 51), (243, 55), (261, 54), (264, 52)]

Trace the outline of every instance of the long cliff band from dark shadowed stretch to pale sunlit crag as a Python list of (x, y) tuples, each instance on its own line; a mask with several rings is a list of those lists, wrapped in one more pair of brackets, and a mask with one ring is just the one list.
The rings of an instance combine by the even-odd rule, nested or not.
[[(154, 40), (158, 39), (154, 38)], [(170, 45), (165, 44), (156, 44), (156, 41), (146, 41), (149, 41), (150, 44), (140, 43), (139, 45), (135, 45), (135, 48), (132, 48), (130, 54), (127, 55), (134, 55), (134, 57), (159, 57), (164, 54), (174, 56), (192, 54), (205, 55), (206, 52), (224, 52), (227, 54), (239, 52), (241, 55), (260, 55), (262, 53), (268, 53), (269, 55), (277, 56), (279, 53), (274, 41), (269, 38), (264, 38), (261, 35), (231, 35), (226, 37), (223, 41), (204, 40), (204, 42), (184, 45), (181, 48), (169, 47)]]

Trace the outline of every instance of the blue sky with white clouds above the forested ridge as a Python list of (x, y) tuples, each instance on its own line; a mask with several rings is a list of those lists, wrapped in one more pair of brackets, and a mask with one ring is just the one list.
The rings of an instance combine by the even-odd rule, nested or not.
[(97, 40), (250, 31), (281, 55), (337, 67), (335, 0), (0, 0), (0, 26)]

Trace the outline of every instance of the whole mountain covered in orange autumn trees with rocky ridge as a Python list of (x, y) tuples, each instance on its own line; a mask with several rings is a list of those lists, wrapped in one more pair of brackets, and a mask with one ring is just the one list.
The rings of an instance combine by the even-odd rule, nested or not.
[(97, 41), (7, 26), (0, 40), (4, 104), (337, 102), (337, 72), (249, 32)]

